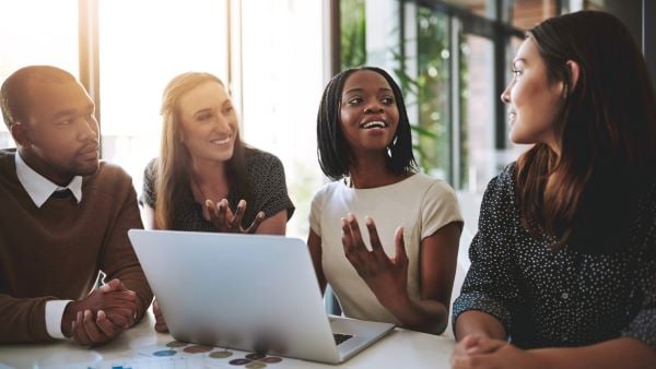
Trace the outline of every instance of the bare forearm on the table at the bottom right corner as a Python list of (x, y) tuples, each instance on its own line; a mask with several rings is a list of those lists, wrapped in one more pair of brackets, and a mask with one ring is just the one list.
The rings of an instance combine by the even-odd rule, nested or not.
[(656, 352), (623, 337), (591, 346), (530, 350), (538, 369), (656, 369)]

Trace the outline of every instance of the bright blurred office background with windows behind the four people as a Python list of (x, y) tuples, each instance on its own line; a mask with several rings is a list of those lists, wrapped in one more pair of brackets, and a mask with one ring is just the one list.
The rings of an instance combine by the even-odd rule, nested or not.
[[(297, 206), (289, 234), (305, 238), (326, 181), (315, 133), (323, 88), (344, 68), (378, 66), (403, 88), (421, 169), (458, 190), (472, 234), (485, 184), (526, 150), (508, 142), (499, 98), (524, 31), (581, 9), (620, 16), (656, 76), (648, 0), (1, 0), (0, 82), (27, 64), (78, 75), (97, 105), (103, 158), (140, 192), (165, 84), (185, 71), (216, 74), (245, 141), (282, 159)], [(0, 147), (10, 146), (2, 124)]]

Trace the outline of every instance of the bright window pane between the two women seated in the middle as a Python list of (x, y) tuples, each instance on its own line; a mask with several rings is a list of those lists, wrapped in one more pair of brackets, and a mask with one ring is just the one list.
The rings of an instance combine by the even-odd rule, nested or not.
[(316, 124), (323, 81), (321, 2), (242, 1), (244, 139), (278, 156), (296, 206), (288, 235), (308, 235), (323, 184)]

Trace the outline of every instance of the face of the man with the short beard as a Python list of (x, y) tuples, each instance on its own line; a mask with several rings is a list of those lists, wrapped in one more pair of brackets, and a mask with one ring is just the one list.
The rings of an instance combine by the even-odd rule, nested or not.
[(74, 176), (98, 169), (98, 122), (95, 106), (77, 81), (27, 82), (21, 154), (42, 176), (66, 186)]

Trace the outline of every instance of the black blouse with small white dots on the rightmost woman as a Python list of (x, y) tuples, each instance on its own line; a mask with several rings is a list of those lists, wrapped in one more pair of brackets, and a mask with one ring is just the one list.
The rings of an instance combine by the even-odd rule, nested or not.
[(488, 186), (471, 267), (453, 307), (496, 317), (523, 347), (583, 346), (629, 336), (656, 350), (656, 181), (645, 186), (630, 243), (586, 254), (531, 237), (519, 223), (515, 165)]

